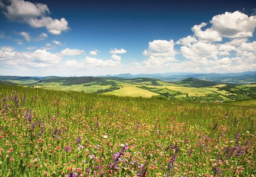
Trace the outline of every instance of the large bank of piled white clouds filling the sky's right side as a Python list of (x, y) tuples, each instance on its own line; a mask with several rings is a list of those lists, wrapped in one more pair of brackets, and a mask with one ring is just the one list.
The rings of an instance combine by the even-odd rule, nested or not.
[[(208, 28), (206, 28), (208, 27)], [(256, 16), (242, 12), (216, 15), (209, 24), (194, 25), (194, 35), (172, 40), (154, 40), (148, 43), (148, 56), (138, 67), (155, 72), (189, 71), (219, 72), (256, 70), (256, 41), (248, 42), (256, 27)], [(202, 28), (206, 28), (202, 30)], [(225, 41), (227, 42), (223, 42)], [(180, 55), (185, 60), (180, 60)], [(159, 67), (161, 65), (161, 67)], [(148, 70), (145, 69), (145, 70)]]

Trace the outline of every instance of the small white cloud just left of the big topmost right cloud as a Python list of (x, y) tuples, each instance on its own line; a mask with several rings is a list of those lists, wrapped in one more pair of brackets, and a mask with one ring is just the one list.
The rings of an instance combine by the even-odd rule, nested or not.
[(195, 25), (192, 28), (192, 31), (195, 32), (195, 36), (198, 37), (200, 40), (205, 40), (208, 42), (211, 41), (222, 41), (222, 37), (218, 31), (212, 30), (212, 28), (207, 28), (205, 31), (202, 31), (201, 28), (205, 27), (207, 24), (202, 23), (200, 25)]

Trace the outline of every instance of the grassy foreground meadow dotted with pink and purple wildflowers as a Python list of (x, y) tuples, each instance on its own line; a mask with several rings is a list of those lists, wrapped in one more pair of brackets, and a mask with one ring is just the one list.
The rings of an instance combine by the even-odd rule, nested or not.
[(255, 100), (195, 103), (6, 84), (0, 96), (0, 176), (256, 175)]

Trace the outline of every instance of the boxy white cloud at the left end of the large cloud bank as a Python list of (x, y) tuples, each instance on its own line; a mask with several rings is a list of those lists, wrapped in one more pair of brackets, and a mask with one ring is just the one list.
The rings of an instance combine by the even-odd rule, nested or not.
[(148, 43), (148, 50), (144, 50), (144, 55), (149, 56), (147, 65), (150, 64), (165, 64), (172, 61), (177, 61), (175, 55), (177, 51), (174, 50), (173, 40), (154, 40)]

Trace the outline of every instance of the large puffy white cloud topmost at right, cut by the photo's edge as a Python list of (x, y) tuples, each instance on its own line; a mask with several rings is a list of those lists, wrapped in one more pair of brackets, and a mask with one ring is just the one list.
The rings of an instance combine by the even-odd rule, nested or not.
[(218, 31), (222, 37), (252, 37), (256, 27), (256, 16), (248, 17), (242, 12), (225, 12), (212, 18), (212, 30)]

